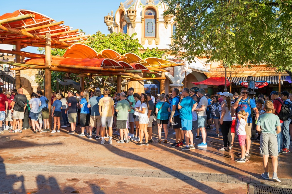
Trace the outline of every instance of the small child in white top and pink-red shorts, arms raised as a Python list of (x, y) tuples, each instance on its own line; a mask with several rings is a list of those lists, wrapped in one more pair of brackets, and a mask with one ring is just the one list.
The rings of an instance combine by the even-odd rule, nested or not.
[(246, 139), (246, 132), (245, 132), (245, 125), (246, 119), (248, 117), (248, 113), (244, 110), (241, 110), (237, 114), (238, 122), (236, 127), (236, 133), (238, 135), (239, 145), (241, 147), (241, 158), (236, 159), (237, 162), (245, 162), (245, 139)]

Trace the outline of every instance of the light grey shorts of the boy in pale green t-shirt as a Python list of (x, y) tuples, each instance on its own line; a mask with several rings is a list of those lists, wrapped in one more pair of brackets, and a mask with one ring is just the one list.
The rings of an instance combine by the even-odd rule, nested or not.
[(261, 133), (260, 154), (278, 156), (278, 142), (276, 134)]

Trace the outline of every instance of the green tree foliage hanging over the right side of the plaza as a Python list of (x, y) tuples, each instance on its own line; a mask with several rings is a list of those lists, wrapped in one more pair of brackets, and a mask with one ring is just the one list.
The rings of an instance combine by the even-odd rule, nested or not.
[(292, 1), (282, 0), (164, 0), (164, 14), (176, 17), (171, 50), (210, 56), (232, 65), (265, 62), (279, 71), (292, 70)]

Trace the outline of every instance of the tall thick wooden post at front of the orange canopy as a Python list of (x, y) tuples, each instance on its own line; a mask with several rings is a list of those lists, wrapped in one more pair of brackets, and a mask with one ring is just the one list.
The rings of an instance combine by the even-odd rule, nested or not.
[[(45, 65), (51, 66), (51, 35), (46, 33), (46, 58), (45, 58)], [(52, 122), (51, 116), (51, 86), (52, 80), (52, 72), (50, 69), (45, 69), (45, 96), (49, 100), (48, 109), (49, 109), (49, 123)]]

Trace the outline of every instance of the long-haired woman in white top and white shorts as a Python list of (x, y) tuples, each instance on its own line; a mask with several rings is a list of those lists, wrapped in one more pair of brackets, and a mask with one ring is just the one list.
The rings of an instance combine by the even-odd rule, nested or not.
[[(148, 101), (147, 101), (147, 96), (146, 94), (141, 95), (141, 106), (135, 109), (139, 113), (139, 129), (140, 129), (140, 141), (137, 143), (137, 145), (149, 145), (148, 144), (148, 131), (147, 131), (147, 126), (149, 123), (149, 118), (148, 118)], [(143, 137), (145, 134), (145, 143), (142, 143)]]

